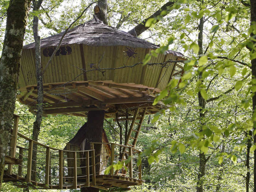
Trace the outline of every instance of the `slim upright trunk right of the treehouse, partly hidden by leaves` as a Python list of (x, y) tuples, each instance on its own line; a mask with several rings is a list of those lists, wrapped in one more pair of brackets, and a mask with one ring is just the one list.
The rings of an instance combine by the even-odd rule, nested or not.
[[(200, 23), (198, 26), (199, 33), (198, 33), (197, 43), (199, 46), (199, 52), (198, 52), (199, 58), (203, 54), (203, 23), (204, 23), (204, 19), (202, 17), (200, 19)], [(199, 77), (198, 77), (199, 79), (202, 79), (202, 74), (203, 74), (203, 72), (199, 73)], [(201, 125), (200, 125), (201, 126), (200, 132), (201, 132), (202, 127), (204, 125), (204, 117), (205, 117), (204, 109), (205, 109), (206, 102), (205, 102), (204, 98), (202, 97), (200, 91), (198, 92), (198, 103), (200, 106), (199, 117), (200, 117), (200, 123), (201, 123)], [(205, 175), (205, 166), (206, 166), (206, 157), (205, 157), (205, 154), (200, 150), (199, 151), (199, 172), (197, 174), (197, 187), (196, 187), (197, 192), (203, 192), (203, 179), (202, 178)]]

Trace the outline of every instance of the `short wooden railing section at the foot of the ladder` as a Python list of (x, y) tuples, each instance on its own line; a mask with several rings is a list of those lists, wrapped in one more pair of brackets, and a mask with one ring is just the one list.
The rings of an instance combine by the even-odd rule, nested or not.
[[(109, 172), (110, 175), (120, 175), (129, 178), (136, 178), (138, 180), (142, 180), (142, 167), (141, 164), (138, 165), (138, 155), (140, 150), (125, 146), (116, 143), (99, 143), (92, 142), (91, 149), (101, 148), (101, 152), (95, 156), (95, 164), (96, 164), (96, 175), (105, 174), (105, 170), (108, 166), (112, 165), (112, 163), (118, 161), (124, 161), (131, 157), (131, 161), (128, 162), (127, 165), (123, 165), (123, 167), (119, 170), (114, 170), (112, 168)], [(97, 157), (100, 156), (100, 161), (97, 162)], [(123, 159), (121, 159), (123, 157)], [(97, 165), (98, 170), (97, 170)]]

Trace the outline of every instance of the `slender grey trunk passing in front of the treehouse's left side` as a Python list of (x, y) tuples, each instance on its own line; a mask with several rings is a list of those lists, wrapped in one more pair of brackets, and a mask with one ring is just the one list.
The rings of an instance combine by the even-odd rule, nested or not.
[[(33, 11), (37, 11), (42, 4), (42, 0), (34, 1), (33, 0)], [(40, 131), (40, 126), (42, 122), (42, 113), (43, 113), (43, 101), (44, 101), (44, 92), (43, 92), (43, 81), (42, 81), (42, 70), (41, 70), (41, 50), (40, 50), (40, 36), (38, 35), (38, 17), (34, 16), (33, 18), (33, 35), (35, 40), (35, 70), (37, 76), (37, 91), (38, 91), (38, 98), (37, 98), (37, 114), (35, 121), (33, 123), (33, 133), (32, 139), (37, 141), (38, 135)], [(37, 145), (33, 146), (33, 155), (32, 159), (32, 170), (36, 171), (37, 167)], [(32, 172), (31, 179), (35, 181), (35, 172)]]

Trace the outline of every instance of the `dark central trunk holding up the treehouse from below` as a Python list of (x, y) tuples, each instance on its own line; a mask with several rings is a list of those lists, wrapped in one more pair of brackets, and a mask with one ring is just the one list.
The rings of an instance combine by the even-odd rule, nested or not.
[[(87, 117), (86, 127), (84, 128), (85, 133), (85, 150), (90, 149), (90, 142), (102, 142), (103, 122), (104, 122), (104, 111), (89, 111)], [(101, 147), (96, 145), (95, 155), (101, 153)], [(95, 158), (95, 164), (100, 161), (100, 156)], [(99, 172), (99, 165), (95, 167), (96, 172)], [(98, 192), (99, 189), (93, 187), (81, 188), (81, 192)]]

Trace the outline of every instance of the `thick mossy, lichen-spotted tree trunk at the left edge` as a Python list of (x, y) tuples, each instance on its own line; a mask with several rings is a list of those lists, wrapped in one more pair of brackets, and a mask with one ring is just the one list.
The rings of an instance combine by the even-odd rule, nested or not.
[(4, 44), (0, 59), (0, 189), (15, 108), (20, 57), (29, 8), (29, 0), (12, 0), (7, 10)]

